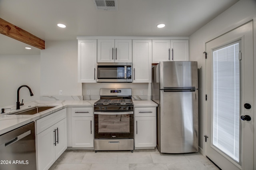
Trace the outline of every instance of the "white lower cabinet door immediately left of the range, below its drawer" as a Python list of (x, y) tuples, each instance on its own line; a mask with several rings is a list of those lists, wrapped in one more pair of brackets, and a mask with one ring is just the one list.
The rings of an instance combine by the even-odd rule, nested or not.
[(93, 117), (72, 117), (72, 147), (93, 147)]

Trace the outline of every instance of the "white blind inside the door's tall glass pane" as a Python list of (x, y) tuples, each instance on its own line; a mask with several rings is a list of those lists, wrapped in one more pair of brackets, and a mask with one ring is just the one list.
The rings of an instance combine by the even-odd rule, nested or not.
[(240, 162), (240, 60), (239, 42), (213, 51), (212, 144)]

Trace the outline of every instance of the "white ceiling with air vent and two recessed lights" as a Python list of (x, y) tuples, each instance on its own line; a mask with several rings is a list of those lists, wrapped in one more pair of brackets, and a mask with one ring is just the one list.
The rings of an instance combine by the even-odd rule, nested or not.
[[(76, 36), (190, 36), (236, 2), (117, 0), (117, 11), (97, 11), (92, 0), (0, 0), (0, 18), (46, 42)], [(156, 28), (159, 23), (166, 27)]]

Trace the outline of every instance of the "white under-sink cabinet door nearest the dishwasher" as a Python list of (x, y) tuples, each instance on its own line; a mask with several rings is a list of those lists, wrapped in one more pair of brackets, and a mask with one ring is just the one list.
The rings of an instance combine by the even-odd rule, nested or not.
[(38, 170), (48, 170), (55, 162), (54, 135), (52, 127), (36, 135)]

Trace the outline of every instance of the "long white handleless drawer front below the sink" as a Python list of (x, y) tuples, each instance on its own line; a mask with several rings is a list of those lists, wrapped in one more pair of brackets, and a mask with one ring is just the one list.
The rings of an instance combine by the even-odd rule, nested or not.
[(62, 109), (60, 111), (52, 113), (51, 115), (43, 117), (42, 119), (38, 119), (36, 121), (36, 134), (39, 134), (40, 132), (46, 130), (47, 128), (51, 127), (52, 125), (65, 118), (66, 109)]

